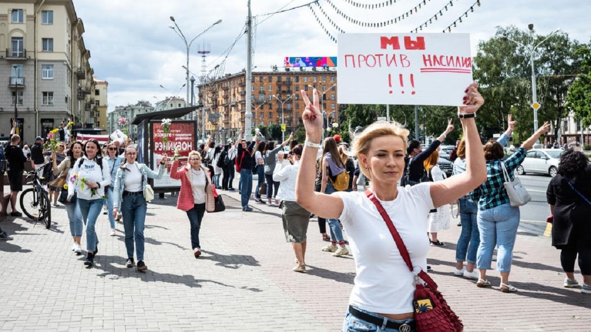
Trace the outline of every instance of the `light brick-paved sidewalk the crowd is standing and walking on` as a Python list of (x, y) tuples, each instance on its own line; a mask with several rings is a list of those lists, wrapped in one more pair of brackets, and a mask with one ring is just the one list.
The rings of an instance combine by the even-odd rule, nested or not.
[[(123, 226), (111, 237), (101, 214), (99, 254), (93, 268), (70, 250), (63, 207), (53, 209), (47, 230), (30, 220), (0, 223), (14, 240), (0, 243), (1, 330), (126, 331), (337, 331), (355, 277), (351, 256), (335, 258), (320, 248), (316, 219), (309, 227), (309, 271), (291, 271), (281, 211), (253, 204), (240, 209), (238, 193), (224, 193), (226, 211), (206, 214), (203, 256), (193, 258), (189, 221), (176, 197), (154, 201), (146, 219), (146, 273), (125, 268)], [(439, 234), (447, 243), (431, 248), (429, 263), (440, 290), (466, 331), (589, 331), (591, 296), (562, 287), (558, 250), (550, 239), (520, 232), (515, 248), (514, 294), (453, 276), (460, 227)], [(83, 240), (83, 247), (84, 247)], [(578, 269), (577, 269), (578, 273)], [(580, 276), (577, 276), (582, 282)]]

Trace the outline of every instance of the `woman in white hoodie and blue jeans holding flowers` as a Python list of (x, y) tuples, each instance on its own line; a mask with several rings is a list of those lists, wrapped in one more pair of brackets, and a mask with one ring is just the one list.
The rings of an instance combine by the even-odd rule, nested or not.
[(68, 201), (77, 192), (82, 219), (86, 220), (86, 250), (88, 255), (84, 265), (92, 266), (99, 251), (99, 239), (96, 236), (95, 223), (105, 201), (105, 187), (111, 184), (108, 163), (100, 157), (100, 145), (96, 139), (89, 139), (84, 145), (84, 155), (74, 164)]

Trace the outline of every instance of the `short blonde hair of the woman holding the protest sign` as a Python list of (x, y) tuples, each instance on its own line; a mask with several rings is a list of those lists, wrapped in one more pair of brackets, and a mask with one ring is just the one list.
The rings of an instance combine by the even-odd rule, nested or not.
[[(403, 149), (406, 151), (408, 146), (408, 134), (408, 130), (398, 122), (374, 122), (367, 128), (363, 129), (361, 133), (352, 135), (353, 142), (350, 155), (353, 157), (359, 157), (359, 154), (367, 154), (369, 152), (369, 147), (371, 147), (371, 141), (374, 138), (388, 135), (397, 136), (402, 139), (402, 144), (404, 145)], [(369, 174), (369, 171), (365, 169), (365, 167), (360, 167), (360, 169), (365, 177), (371, 179), (371, 175)]]

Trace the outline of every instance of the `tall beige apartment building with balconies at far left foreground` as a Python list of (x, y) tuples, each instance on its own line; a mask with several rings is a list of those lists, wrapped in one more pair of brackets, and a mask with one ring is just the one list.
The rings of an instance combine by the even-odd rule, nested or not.
[(8, 136), (15, 106), (24, 142), (64, 118), (92, 126), (90, 51), (72, 0), (0, 1), (0, 136)]

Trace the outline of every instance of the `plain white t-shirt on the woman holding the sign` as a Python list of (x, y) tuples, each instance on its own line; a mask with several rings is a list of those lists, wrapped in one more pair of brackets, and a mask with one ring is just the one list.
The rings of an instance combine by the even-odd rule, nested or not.
[[(411, 262), (427, 271), (427, 215), (433, 209), (430, 183), (398, 187), (392, 201), (380, 201), (400, 233)], [(413, 313), (414, 274), (404, 263), (391, 233), (374, 203), (362, 191), (339, 191), (353, 258), (355, 286), (349, 304), (372, 313)], [(417, 270), (418, 271), (418, 270)]]

